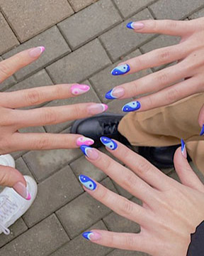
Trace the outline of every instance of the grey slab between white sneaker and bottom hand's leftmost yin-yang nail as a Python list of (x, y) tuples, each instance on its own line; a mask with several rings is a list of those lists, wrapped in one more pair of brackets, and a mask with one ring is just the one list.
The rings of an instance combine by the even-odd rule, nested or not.
[(23, 216), (23, 220), (30, 227), (82, 192), (83, 189), (77, 178), (69, 166), (66, 166), (38, 185), (38, 195), (33, 205)]

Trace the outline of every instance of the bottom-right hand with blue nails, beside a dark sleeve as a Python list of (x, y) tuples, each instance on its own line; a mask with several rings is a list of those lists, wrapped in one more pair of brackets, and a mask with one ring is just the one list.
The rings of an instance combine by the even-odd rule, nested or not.
[(115, 149), (108, 149), (108, 144), (106, 149), (129, 169), (97, 149), (81, 146), (81, 150), (91, 164), (140, 198), (143, 205), (109, 191), (87, 176), (79, 176), (79, 181), (96, 200), (124, 218), (139, 223), (141, 232), (91, 230), (84, 233), (84, 238), (98, 245), (142, 251), (153, 256), (186, 256), (191, 233), (195, 233), (196, 227), (204, 220), (204, 186), (188, 164), (186, 147), (183, 146), (182, 151), (177, 149), (174, 156), (175, 169), (181, 180), (179, 183), (123, 144), (113, 140), (110, 144)]

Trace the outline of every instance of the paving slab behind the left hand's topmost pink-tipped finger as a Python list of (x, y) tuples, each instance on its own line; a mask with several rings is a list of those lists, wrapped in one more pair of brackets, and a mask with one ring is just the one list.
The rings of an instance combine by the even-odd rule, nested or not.
[(46, 65), (52, 63), (54, 60), (62, 57), (62, 55), (70, 53), (71, 51), (57, 26), (53, 26), (52, 28), (47, 29), (47, 31), (40, 33), (38, 36), (31, 38), (29, 41), (26, 41), (26, 43), (22, 43), (21, 46), (18, 46), (13, 50), (10, 50), (8, 53), (5, 53), (3, 58), (5, 59), (11, 57), (16, 53), (19, 53), (21, 50), (26, 50), (35, 46), (45, 46), (45, 52), (42, 53), (40, 58), (34, 63), (15, 73), (17, 80), (23, 80), (23, 78), (37, 72)]

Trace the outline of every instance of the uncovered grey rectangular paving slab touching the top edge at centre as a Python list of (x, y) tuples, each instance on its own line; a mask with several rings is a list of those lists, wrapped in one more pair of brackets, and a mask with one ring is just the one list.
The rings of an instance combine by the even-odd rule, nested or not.
[(101, 0), (58, 26), (72, 50), (93, 40), (96, 36), (122, 21), (111, 0)]

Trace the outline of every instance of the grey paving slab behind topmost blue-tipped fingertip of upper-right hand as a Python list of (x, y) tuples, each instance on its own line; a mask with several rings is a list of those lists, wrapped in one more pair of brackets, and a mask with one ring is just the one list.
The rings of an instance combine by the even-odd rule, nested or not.
[(127, 55), (152, 38), (152, 35), (135, 33), (132, 29), (126, 28), (127, 23), (152, 18), (149, 11), (145, 9), (99, 37), (113, 61), (119, 60), (123, 55)]

